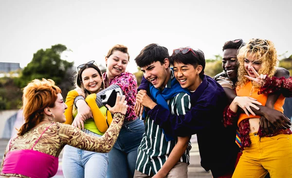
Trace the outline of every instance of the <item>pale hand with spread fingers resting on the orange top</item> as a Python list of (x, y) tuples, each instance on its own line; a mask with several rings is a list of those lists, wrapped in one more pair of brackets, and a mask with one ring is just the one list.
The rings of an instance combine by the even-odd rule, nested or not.
[(251, 107), (254, 107), (256, 110), (258, 110), (259, 107), (257, 107), (256, 105), (262, 105), (261, 103), (259, 103), (258, 101), (256, 101), (255, 98), (248, 97), (248, 96), (237, 96), (237, 97), (234, 98), (234, 100), (235, 100), (234, 103), (238, 107), (241, 107), (244, 110), (245, 114), (248, 115), (248, 116), (249, 116), (249, 112), (251, 114), (253, 114), (254, 116), (256, 115), (253, 112), (253, 110), (251, 109)]

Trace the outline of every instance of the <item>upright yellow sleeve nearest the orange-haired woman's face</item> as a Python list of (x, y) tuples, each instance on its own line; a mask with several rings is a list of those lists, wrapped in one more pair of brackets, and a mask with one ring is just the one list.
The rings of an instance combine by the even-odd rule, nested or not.
[(68, 92), (66, 97), (65, 104), (67, 105), (67, 109), (65, 110), (66, 122), (64, 124), (72, 124), (73, 123), (73, 107), (74, 107), (74, 99), (78, 96), (78, 92), (76, 90), (71, 90)]

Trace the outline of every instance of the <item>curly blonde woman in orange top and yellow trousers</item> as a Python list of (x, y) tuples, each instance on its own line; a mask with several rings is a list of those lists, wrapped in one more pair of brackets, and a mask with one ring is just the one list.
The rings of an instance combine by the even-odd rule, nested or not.
[[(281, 94), (274, 103), (274, 109), (283, 113), (285, 96), (292, 96), (292, 84), (291, 77), (273, 77), (278, 66), (274, 43), (270, 40), (250, 39), (239, 50), (237, 59), (237, 96), (245, 97), (246, 102), (265, 106), (268, 94), (278, 91)], [(272, 178), (292, 177), (291, 130), (283, 126), (266, 134), (259, 126), (261, 116), (237, 116), (237, 108), (238, 101), (235, 99), (226, 107), (224, 114), (224, 124), (232, 125), (237, 122), (243, 149), (233, 178), (264, 178), (268, 172)], [(284, 125), (284, 121), (280, 124)]]

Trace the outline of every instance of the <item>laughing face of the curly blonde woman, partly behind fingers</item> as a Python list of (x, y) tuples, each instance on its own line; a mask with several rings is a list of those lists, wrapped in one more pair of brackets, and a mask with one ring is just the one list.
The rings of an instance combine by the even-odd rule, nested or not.
[(251, 67), (254, 67), (256, 72), (258, 73), (258, 71), (261, 68), (261, 61), (259, 61), (258, 58), (255, 55), (248, 54), (244, 58), (244, 69), (245, 69), (245, 71), (247, 71), (247, 73), (248, 73), (248, 75), (250, 77), (254, 77), (255, 78), (256, 75), (252, 71)]

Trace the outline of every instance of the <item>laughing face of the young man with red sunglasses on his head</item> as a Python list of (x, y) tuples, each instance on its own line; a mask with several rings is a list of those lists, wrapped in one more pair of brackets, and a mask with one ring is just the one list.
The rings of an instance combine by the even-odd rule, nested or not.
[(198, 65), (196, 68), (191, 64), (183, 64), (181, 62), (174, 62), (173, 71), (175, 78), (179, 81), (182, 88), (191, 91), (196, 90), (201, 84), (199, 73), (202, 71), (202, 66)]

